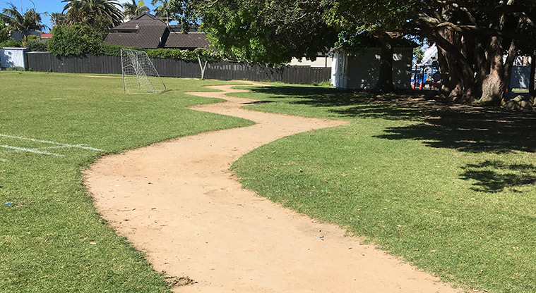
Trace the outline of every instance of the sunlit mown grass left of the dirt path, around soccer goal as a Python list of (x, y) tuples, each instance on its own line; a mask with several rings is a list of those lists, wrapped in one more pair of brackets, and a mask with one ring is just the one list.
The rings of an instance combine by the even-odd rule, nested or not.
[(165, 82), (163, 94), (126, 95), (117, 76), (0, 72), (0, 135), (103, 150), (0, 136), (1, 292), (168, 292), (143, 254), (97, 216), (80, 172), (104, 154), (251, 124), (185, 108), (216, 100), (183, 92), (228, 82)]

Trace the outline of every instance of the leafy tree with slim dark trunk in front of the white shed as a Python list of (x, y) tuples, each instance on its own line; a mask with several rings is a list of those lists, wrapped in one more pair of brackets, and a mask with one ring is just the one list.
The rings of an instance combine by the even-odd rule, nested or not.
[[(179, 0), (172, 0), (179, 1)], [(376, 90), (392, 92), (393, 47), (405, 21), (396, 11), (376, 8), (383, 1), (192, 0), (203, 29), (220, 49), (247, 61), (287, 63), (293, 56), (316, 58), (318, 52), (343, 47), (347, 51), (381, 47)], [(376, 3), (377, 2), (377, 3)], [(403, 5), (402, 5), (403, 6)]]

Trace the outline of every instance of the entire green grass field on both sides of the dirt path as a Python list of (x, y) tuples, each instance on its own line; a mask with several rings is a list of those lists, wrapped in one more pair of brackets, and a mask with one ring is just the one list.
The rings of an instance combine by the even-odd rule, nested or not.
[[(191, 111), (218, 81), (0, 72), (0, 291), (167, 292), (160, 273), (95, 213), (81, 168), (104, 154), (248, 120)], [(536, 292), (536, 118), (372, 101), (325, 87), (236, 94), (248, 108), (350, 121), (239, 159), (249, 189), (338, 223), (443, 280)], [(11, 203), (6, 205), (4, 203)]]

